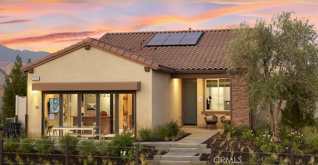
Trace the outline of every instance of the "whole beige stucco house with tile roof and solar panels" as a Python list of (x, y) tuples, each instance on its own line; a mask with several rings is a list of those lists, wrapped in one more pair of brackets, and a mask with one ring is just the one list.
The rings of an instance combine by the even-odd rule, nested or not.
[[(177, 121), (206, 126), (204, 115), (231, 114), (249, 125), (246, 88), (228, 75), (230, 29), (106, 33), (20, 68), (28, 73), (28, 136), (50, 125), (100, 126), (110, 135)], [(86, 131), (85, 131), (86, 133)]]

